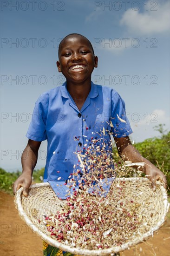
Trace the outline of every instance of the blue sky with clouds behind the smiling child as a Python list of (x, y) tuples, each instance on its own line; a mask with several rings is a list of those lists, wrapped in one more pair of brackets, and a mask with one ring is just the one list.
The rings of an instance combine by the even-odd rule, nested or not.
[[(126, 103), (132, 141), (158, 136), (170, 124), (170, 2), (1, 1), (1, 163), (21, 168), (20, 156), (39, 95), (59, 86), (59, 41), (85, 35), (98, 56), (92, 81), (114, 88)], [(37, 168), (45, 166), (46, 142)]]

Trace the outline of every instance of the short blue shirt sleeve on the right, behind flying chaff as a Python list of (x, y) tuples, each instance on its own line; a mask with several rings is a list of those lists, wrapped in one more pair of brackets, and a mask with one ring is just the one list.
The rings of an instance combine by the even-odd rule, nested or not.
[(132, 133), (125, 111), (124, 100), (117, 92), (112, 94), (111, 126), (114, 137), (126, 137)]

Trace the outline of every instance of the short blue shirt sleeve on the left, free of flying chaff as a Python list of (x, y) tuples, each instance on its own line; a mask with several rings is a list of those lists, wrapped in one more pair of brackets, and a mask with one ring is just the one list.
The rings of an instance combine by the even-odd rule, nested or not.
[(29, 125), (26, 137), (33, 141), (45, 141), (46, 135), (46, 115), (48, 106), (41, 95), (35, 103), (32, 120)]

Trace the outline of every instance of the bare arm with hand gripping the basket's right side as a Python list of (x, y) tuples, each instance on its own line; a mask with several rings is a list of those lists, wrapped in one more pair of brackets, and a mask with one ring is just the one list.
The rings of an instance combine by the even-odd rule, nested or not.
[(144, 158), (140, 153), (134, 148), (131, 144), (129, 137), (116, 138), (114, 137), (116, 146), (118, 148), (118, 153), (124, 161), (131, 162), (144, 162), (144, 172), (145, 175), (149, 178), (152, 188), (156, 188), (156, 180), (161, 180), (164, 187), (166, 188), (167, 181), (165, 175), (149, 160)]

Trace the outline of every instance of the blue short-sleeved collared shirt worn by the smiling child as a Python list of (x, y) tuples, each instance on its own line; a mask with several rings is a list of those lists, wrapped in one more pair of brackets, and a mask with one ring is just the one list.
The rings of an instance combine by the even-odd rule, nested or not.
[(42, 94), (36, 101), (26, 137), (48, 142), (44, 182), (50, 182), (52, 187), (58, 179), (59, 184), (65, 183), (74, 164), (79, 164), (74, 152), (84, 150), (92, 137), (102, 135), (109, 148), (110, 135), (104, 135), (103, 130), (112, 131), (115, 137), (132, 133), (124, 101), (114, 89), (91, 83), (81, 111), (67, 91), (66, 82)]

